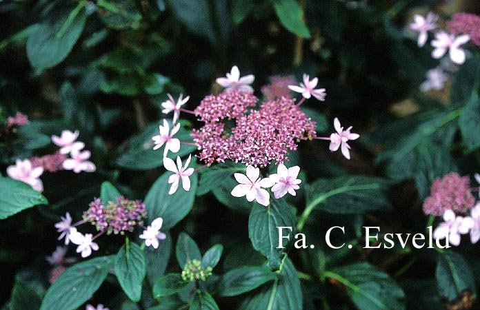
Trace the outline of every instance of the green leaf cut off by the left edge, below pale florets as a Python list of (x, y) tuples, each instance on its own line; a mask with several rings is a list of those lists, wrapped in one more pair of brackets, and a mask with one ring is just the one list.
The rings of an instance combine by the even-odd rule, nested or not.
[(33, 207), (48, 205), (48, 201), (30, 185), (0, 176), (0, 219)]

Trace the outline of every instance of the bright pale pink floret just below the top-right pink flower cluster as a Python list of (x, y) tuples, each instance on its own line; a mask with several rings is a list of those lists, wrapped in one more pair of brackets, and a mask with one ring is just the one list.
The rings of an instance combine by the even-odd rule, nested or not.
[(434, 50), (432, 51), (432, 57), (434, 59), (441, 58), (447, 50), (449, 50), (450, 59), (454, 63), (461, 65), (465, 62), (465, 51), (460, 48), (461, 45), (470, 41), (468, 34), (462, 34), (455, 37), (454, 34), (448, 34), (447, 32), (440, 31), (435, 34), (435, 39), (432, 41)]

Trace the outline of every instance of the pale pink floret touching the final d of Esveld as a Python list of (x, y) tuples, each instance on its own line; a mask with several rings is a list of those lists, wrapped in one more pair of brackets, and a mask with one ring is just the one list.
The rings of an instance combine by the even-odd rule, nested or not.
[(443, 214), (443, 222), (433, 231), (433, 238), (441, 240), (447, 238), (454, 245), (460, 245), (461, 234), (468, 234), (474, 226), (474, 221), (470, 216), (455, 216), (454, 211), (447, 210)]

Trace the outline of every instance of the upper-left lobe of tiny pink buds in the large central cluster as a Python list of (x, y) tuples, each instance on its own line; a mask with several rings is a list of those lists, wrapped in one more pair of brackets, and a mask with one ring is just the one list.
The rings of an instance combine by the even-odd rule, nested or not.
[(256, 96), (246, 92), (224, 91), (217, 96), (206, 96), (194, 110), (194, 114), (205, 123), (238, 118), (248, 107), (254, 107), (257, 100)]

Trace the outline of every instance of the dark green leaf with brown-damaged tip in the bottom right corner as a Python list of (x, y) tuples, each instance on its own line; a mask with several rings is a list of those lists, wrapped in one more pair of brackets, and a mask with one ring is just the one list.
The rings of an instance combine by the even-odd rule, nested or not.
[(439, 255), (435, 278), (440, 295), (452, 301), (461, 298), (461, 293), (468, 290), (476, 296), (477, 288), (472, 269), (465, 258), (453, 251), (445, 251)]

